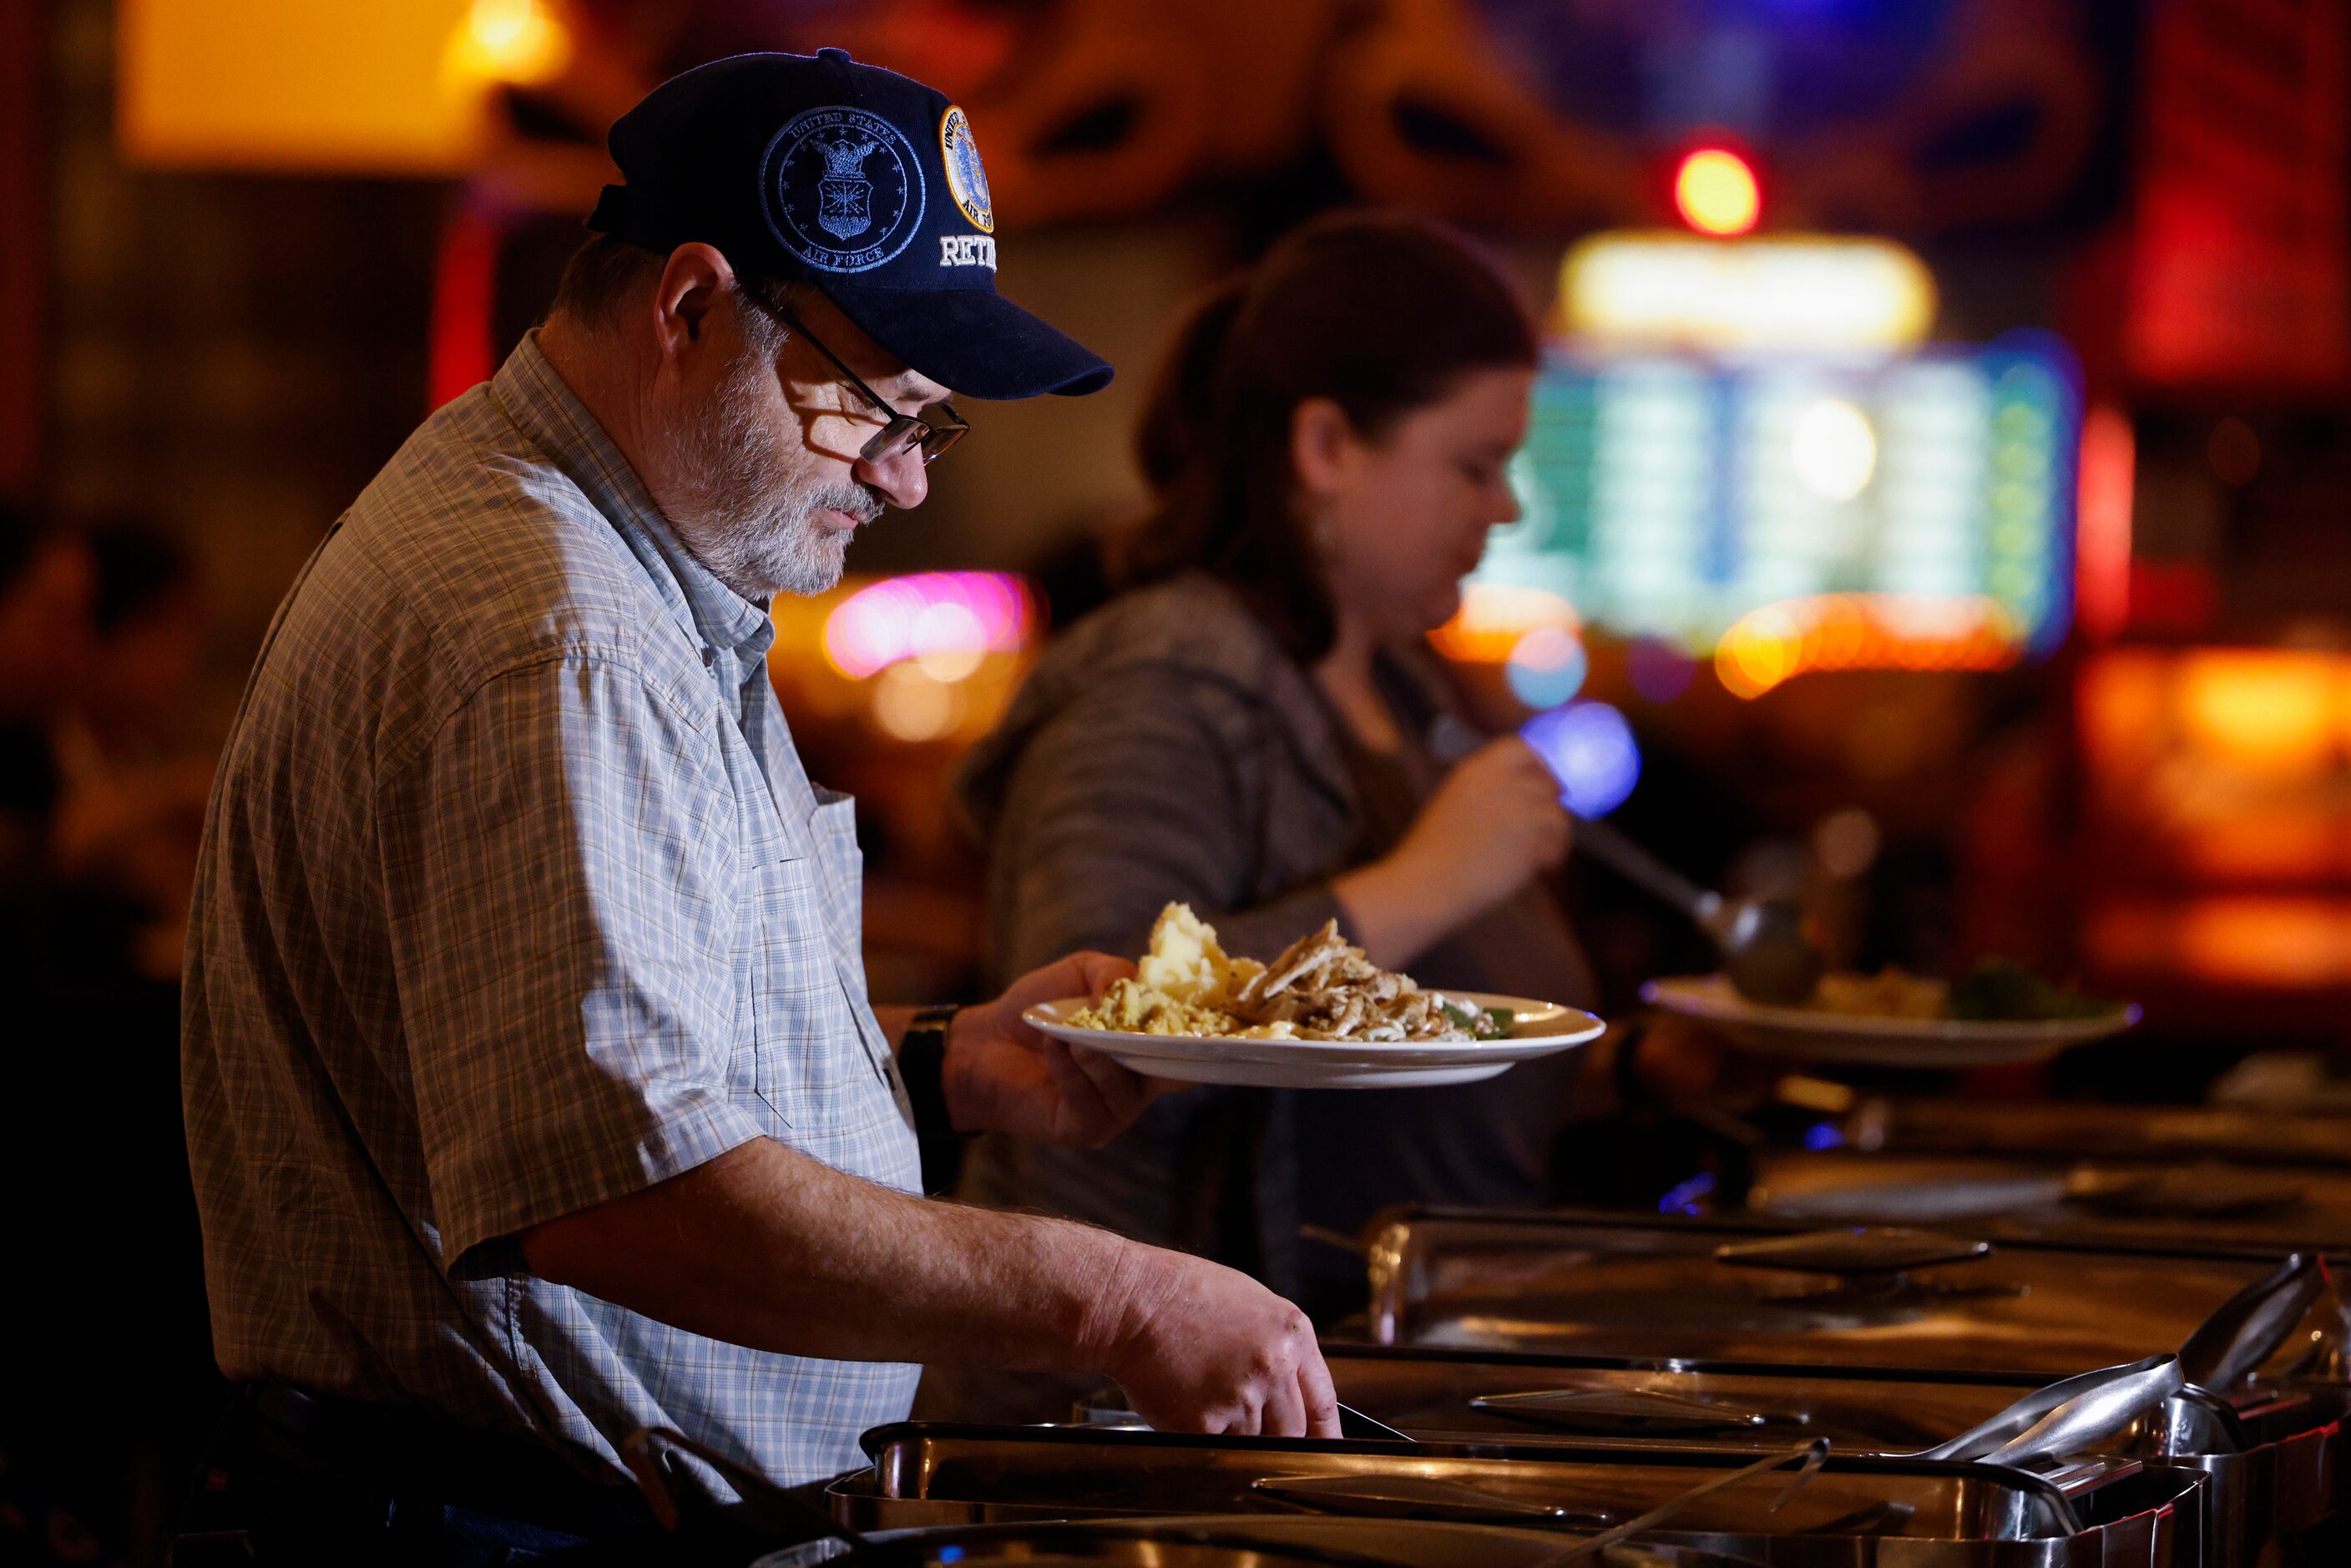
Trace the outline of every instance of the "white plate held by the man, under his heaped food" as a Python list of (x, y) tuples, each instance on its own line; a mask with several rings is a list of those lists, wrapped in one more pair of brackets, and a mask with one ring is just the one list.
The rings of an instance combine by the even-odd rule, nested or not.
[(1500, 1039), (1364, 1041), (1364, 1039), (1232, 1039), (1197, 1034), (1128, 1034), (1067, 1023), (1086, 1009), (1084, 997), (1039, 1001), (1020, 1013), (1032, 1027), (1100, 1051), (1136, 1072), (1187, 1084), (1246, 1084), (1251, 1088), (1429, 1088), (1474, 1084), (1538, 1056), (1589, 1044), (1608, 1030), (1592, 1013), (1556, 1001), (1446, 992), (1469, 1006), (1509, 1009), (1519, 1016)]

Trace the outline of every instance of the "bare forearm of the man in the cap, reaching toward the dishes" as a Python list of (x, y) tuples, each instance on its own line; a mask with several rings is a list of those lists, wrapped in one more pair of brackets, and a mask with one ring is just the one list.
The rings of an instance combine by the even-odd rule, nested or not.
[(522, 1237), (557, 1284), (755, 1349), (1107, 1371), (1154, 1253), (1067, 1220), (915, 1199), (771, 1140)]

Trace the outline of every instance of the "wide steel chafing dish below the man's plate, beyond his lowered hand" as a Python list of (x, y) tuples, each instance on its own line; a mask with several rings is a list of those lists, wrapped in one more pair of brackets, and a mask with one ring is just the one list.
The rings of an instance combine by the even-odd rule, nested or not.
[[(1857, 1227), (1399, 1208), (1371, 1338), (1707, 1361), (2074, 1375), (2179, 1349), (2262, 1258)], [(2339, 1307), (2295, 1345), (2339, 1354)]]

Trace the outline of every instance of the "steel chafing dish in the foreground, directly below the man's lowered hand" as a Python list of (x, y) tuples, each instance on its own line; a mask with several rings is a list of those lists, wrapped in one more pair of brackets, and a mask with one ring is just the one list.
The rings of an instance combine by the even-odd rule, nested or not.
[[(1143, 1514), (1509, 1519), (1589, 1535), (1751, 1455), (1704, 1448), (1211, 1439), (1086, 1427), (896, 1425), (832, 1483), (858, 1530)], [(1773, 1568), (2172, 1568), (2198, 1561), (2198, 1481), (2135, 1460), (2038, 1476), (1998, 1465), (1829, 1458), (1702, 1497), (1643, 1542)], [(1401, 1502), (1399, 1502), (1401, 1497)], [(2182, 1516), (2186, 1512), (2186, 1516)]]

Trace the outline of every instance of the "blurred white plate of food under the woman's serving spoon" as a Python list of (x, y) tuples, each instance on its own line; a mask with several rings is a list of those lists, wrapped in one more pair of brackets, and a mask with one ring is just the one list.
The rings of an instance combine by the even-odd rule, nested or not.
[(1641, 999), (1667, 1013), (1716, 1025), (1759, 1056), (1874, 1067), (2001, 1067), (2045, 1063), (2059, 1051), (2121, 1034), (2139, 1020), (2125, 1006), (2095, 1018), (1975, 1023), (1965, 1018), (1867, 1018), (1808, 1006), (1761, 1006), (1730, 990), (1728, 976), (1650, 980)]

